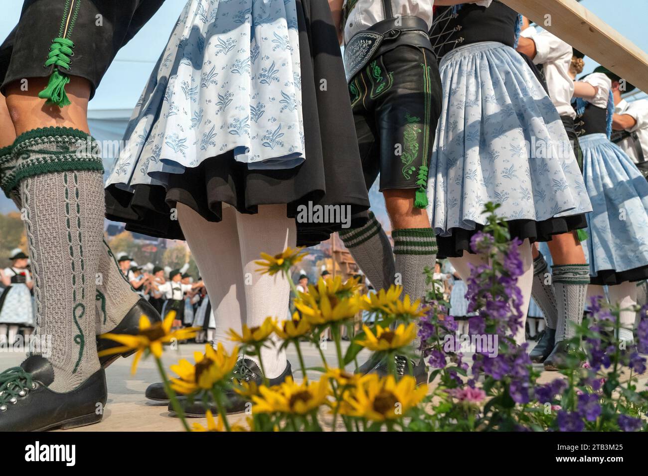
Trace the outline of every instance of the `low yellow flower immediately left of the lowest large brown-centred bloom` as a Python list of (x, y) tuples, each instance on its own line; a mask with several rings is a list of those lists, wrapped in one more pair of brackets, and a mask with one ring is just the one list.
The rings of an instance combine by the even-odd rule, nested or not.
[(297, 384), (292, 378), (275, 387), (259, 387), (260, 395), (253, 396), (253, 412), (307, 414), (327, 403), (329, 381), (322, 376), (318, 382), (304, 380)]

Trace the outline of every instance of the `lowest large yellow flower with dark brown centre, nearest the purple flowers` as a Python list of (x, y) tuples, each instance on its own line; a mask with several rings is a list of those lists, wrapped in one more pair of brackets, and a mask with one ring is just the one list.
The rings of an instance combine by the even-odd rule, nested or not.
[(376, 422), (397, 420), (418, 405), (427, 392), (426, 385), (416, 387), (416, 380), (411, 375), (402, 376), (396, 383), (393, 375), (379, 379), (371, 374), (363, 385), (347, 394), (338, 411)]

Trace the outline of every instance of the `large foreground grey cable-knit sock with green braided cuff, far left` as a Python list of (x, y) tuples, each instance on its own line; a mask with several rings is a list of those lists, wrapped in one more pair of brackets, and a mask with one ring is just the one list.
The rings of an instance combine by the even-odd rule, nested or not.
[(42, 343), (51, 342), (42, 353), (54, 367), (49, 388), (56, 392), (75, 389), (99, 369), (95, 276), (104, 226), (103, 168), (92, 148), (80, 146), (87, 140), (82, 131), (46, 128), (14, 144), (37, 332)]

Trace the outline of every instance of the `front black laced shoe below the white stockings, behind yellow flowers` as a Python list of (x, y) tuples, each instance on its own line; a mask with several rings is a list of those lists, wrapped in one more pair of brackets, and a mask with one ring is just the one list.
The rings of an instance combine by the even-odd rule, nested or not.
[[(263, 385), (263, 374), (261, 373), (261, 369), (254, 361), (250, 359), (239, 359), (234, 372), (236, 376), (235, 378), (239, 381), (254, 381), (257, 383), (257, 385)], [(288, 377), (292, 377), (292, 367), (290, 367), (290, 362), (287, 363), (286, 368), (280, 376), (268, 379), (268, 387), (279, 385), (280, 383), (283, 383)], [(246, 411), (246, 405), (248, 404), (248, 402), (240, 398), (237, 392), (227, 392), (225, 396), (227, 400), (227, 414), (242, 413)], [(185, 397), (180, 397), (178, 398), (178, 400), (180, 402), (180, 405), (182, 405), (183, 407), (185, 416), (189, 418), (203, 418), (205, 414), (207, 414), (207, 409), (205, 409), (203, 402), (195, 401), (190, 405), (187, 401), (187, 398)], [(213, 402), (209, 403), (209, 409), (214, 415), (218, 413), (218, 408)], [(173, 409), (173, 405), (171, 405), (171, 403), (168, 404), (168, 411), (172, 415), (176, 414), (176, 411)]]

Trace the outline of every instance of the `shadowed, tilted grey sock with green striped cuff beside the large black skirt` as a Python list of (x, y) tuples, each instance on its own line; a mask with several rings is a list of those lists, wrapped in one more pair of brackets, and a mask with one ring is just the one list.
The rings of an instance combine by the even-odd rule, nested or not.
[(376, 291), (389, 288), (396, 273), (394, 255), (389, 238), (373, 212), (369, 212), (369, 221), (363, 227), (339, 234), (373, 288)]

